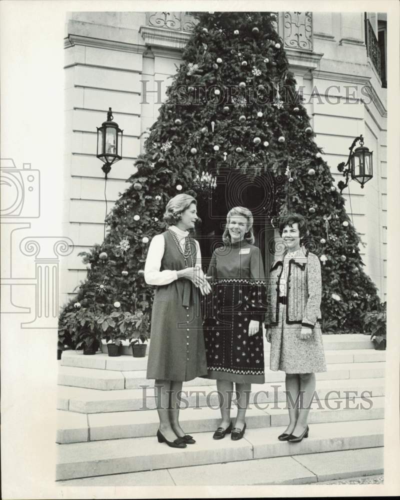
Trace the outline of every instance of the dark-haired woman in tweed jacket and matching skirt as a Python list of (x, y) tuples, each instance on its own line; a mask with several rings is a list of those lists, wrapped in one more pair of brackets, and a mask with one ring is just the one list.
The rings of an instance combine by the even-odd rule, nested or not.
[(289, 424), (278, 436), (299, 442), (308, 437), (307, 418), (315, 391), (315, 372), (326, 371), (321, 317), (321, 266), (316, 255), (300, 246), (306, 221), (297, 213), (280, 220), (287, 249), (272, 263), (269, 275), (266, 338), (271, 343), (269, 367), (286, 372)]

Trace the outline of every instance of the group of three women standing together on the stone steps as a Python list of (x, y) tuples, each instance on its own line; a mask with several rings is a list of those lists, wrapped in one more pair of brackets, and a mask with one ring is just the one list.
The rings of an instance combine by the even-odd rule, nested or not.
[[(265, 297), (259, 249), (253, 245), (250, 210), (234, 207), (226, 219), (224, 246), (214, 250), (207, 278), (212, 294), (205, 301), (202, 324), (200, 293), (211, 286), (201, 270), (198, 242), (189, 237), (197, 219), (196, 201), (174, 196), (164, 220), (168, 230), (151, 240), (144, 268), (156, 285), (151, 315), (147, 378), (154, 378), (159, 416), (157, 438), (183, 448), (194, 443), (179, 424), (182, 381), (203, 376), (216, 380), (221, 421), (213, 434), (243, 437), (251, 383), (263, 383), (262, 321), (271, 343), (270, 369), (286, 373), (289, 424), (280, 440), (299, 442), (308, 436), (307, 418), (315, 390), (315, 372), (326, 371), (320, 319), (321, 270), (316, 255), (300, 246), (304, 217), (284, 217), (279, 231), (287, 247), (275, 259)], [(204, 328), (204, 329), (203, 329)], [(236, 384), (237, 416), (232, 429), (230, 406)]]

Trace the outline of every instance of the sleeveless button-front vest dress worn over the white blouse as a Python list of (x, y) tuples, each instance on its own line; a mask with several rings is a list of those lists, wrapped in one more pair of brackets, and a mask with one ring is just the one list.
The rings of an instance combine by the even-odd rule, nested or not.
[[(169, 231), (164, 237), (160, 270), (185, 268)], [(196, 260), (196, 244), (190, 238), (191, 258)], [(191, 265), (190, 257), (188, 265)], [(207, 373), (199, 291), (188, 279), (175, 279), (157, 286), (151, 311), (147, 378), (192, 380)]]

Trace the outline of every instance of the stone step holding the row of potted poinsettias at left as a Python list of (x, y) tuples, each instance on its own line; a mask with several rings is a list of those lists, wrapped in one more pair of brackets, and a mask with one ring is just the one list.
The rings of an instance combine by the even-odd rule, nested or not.
[[(333, 336), (333, 335), (327, 335)], [(349, 335), (335, 335), (349, 336)], [(368, 337), (369, 338), (369, 337)], [(268, 344), (269, 345), (269, 344)], [(326, 347), (326, 346), (325, 346)], [(269, 366), (269, 350), (265, 349), (265, 366)], [(358, 363), (384, 361), (386, 351), (370, 348), (360, 349), (333, 349), (325, 348), (326, 363)], [(81, 368), (108, 369), (117, 371), (145, 371), (147, 367), (146, 357), (119, 356), (108, 357), (107, 354), (97, 353), (94, 356), (84, 356), (82, 351), (65, 350), (61, 355), (62, 366), (75, 366)]]

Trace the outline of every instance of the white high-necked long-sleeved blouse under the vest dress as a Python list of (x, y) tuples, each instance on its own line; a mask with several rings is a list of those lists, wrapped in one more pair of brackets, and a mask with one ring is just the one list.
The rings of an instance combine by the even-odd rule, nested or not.
[[(179, 244), (184, 250), (185, 237), (189, 234), (188, 231), (182, 231), (175, 225), (169, 226), (175, 234), (177, 234), (179, 239)], [(196, 261), (194, 263), (194, 267), (201, 268), (201, 254), (200, 254), (200, 246), (198, 241), (196, 242)], [(147, 284), (153, 285), (163, 285), (168, 284), (177, 279), (177, 274), (175, 270), (172, 269), (164, 269), (160, 271), (161, 267), (161, 259), (164, 255), (164, 236), (162, 234), (156, 234), (152, 240), (150, 241), (150, 245), (148, 247), (146, 263), (144, 265), (144, 280)]]

